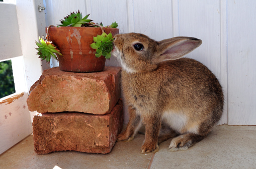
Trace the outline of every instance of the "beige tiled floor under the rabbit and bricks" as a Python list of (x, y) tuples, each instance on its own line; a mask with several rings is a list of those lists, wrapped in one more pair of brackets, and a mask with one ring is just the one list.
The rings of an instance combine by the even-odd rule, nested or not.
[(186, 151), (141, 154), (144, 135), (116, 142), (109, 154), (56, 151), (36, 154), (33, 136), (0, 155), (0, 168), (256, 168), (256, 126), (221, 125)]

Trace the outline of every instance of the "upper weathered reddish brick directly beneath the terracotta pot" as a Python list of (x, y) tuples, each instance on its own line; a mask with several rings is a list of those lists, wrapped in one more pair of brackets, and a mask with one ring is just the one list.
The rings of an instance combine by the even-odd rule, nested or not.
[(78, 111), (109, 113), (120, 98), (121, 67), (106, 66), (104, 71), (75, 73), (44, 70), (30, 88), (27, 99), (30, 111)]

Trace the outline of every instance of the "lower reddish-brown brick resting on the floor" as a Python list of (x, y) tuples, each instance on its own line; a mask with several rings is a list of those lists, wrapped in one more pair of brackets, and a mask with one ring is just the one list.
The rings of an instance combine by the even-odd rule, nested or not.
[(33, 118), (34, 149), (39, 154), (61, 150), (109, 153), (122, 125), (121, 99), (109, 114), (104, 115), (36, 113)]

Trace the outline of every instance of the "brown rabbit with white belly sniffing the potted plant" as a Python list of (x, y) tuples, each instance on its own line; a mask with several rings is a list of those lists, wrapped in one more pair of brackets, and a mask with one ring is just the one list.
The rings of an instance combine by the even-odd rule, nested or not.
[(114, 36), (112, 54), (122, 65), (122, 88), (129, 122), (119, 141), (131, 140), (142, 123), (142, 153), (156, 152), (172, 139), (169, 150), (185, 150), (203, 139), (222, 115), (223, 93), (215, 75), (202, 63), (180, 58), (202, 40), (174, 37), (155, 41), (139, 33)]

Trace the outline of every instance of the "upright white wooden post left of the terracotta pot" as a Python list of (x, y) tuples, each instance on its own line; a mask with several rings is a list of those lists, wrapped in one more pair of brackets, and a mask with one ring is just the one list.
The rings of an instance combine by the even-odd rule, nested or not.
[(24, 59), (24, 62), (21, 64), (25, 65), (27, 82), (25, 92), (29, 91), (30, 86), (32, 86), (42, 74), (42, 61), (38, 58), (38, 55), (36, 54), (37, 50), (35, 49), (35, 41), (38, 41), (39, 37), (36, 17), (37, 12), (39, 11), (38, 3), (35, 3), (37, 1), (39, 0), (26, 1), (25, 3), (22, 0), (17, 0), (16, 4), (22, 55)]

